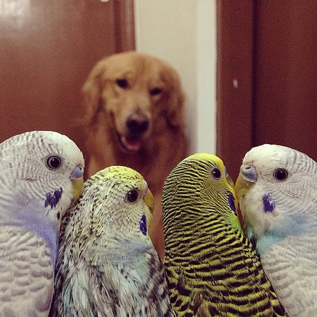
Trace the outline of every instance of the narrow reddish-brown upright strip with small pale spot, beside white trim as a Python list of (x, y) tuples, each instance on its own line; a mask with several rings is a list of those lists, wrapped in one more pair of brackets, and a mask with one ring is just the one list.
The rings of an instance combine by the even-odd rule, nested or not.
[(252, 1), (218, 0), (216, 146), (234, 180), (252, 144), (252, 38)]

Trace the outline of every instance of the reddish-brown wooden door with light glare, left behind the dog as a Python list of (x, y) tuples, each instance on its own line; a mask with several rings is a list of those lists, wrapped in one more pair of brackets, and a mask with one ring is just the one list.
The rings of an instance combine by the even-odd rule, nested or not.
[(102, 57), (134, 50), (133, 1), (0, 1), (0, 141), (54, 130), (83, 145), (80, 90)]

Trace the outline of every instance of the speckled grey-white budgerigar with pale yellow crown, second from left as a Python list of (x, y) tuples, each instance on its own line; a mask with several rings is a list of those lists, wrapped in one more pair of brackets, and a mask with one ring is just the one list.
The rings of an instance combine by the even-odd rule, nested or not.
[(51, 316), (172, 317), (162, 263), (149, 237), (154, 207), (143, 177), (107, 167), (65, 216)]

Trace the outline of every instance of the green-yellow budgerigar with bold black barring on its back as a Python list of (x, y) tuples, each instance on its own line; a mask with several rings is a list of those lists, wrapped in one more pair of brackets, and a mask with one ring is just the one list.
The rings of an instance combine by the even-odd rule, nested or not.
[(182, 160), (162, 193), (164, 267), (178, 317), (285, 316), (243, 234), (233, 187), (218, 157)]

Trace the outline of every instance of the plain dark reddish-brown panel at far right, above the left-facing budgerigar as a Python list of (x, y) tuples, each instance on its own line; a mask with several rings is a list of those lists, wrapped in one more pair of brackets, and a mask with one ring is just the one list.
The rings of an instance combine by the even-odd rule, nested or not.
[(317, 2), (256, 2), (254, 144), (317, 159)]

